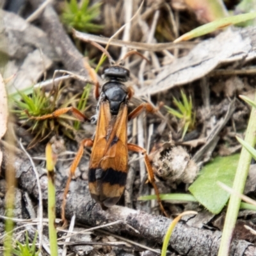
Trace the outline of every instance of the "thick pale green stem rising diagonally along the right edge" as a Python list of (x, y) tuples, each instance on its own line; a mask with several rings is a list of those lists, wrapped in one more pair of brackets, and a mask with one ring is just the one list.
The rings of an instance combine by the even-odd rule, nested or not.
[[(254, 102), (256, 102), (256, 95)], [(248, 127), (246, 130), (244, 141), (249, 143), (252, 147), (255, 145), (256, 137), (256, 109), (252, 108), (250, 120), (248, 123)], [(242, 148), (241, 155), (239, 158), (239, 162), (237, 165), (236, 177), (234, 179), (233, 189), (237, 193), (243, 194), (245, 182), (248, 176), (248, 171), (250, 168), (250, 163), (252, 160), (252, 155), (246, 150), (246, 148)], [(218, 252), (218, 256), (228, 256), (230, 243), (232, 241), (232, 234), (234, 232), (234, 228), (236, 225), (237, 215), (239, 212), (241, 204), (241, 198), (237, 195), (230, 195), (230, 200), (228, 203), (227, 214), (225, 218), (225, 224), (222, 232), (220, 249)]]

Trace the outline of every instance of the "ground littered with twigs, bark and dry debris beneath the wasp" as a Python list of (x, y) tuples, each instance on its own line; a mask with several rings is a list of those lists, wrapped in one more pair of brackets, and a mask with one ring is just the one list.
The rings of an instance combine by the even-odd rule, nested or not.
[[(12, 1), (6, 1), (5, 10), (1, 10), (0, 16), (3, 18), (2, 73), (4, 79), (11, 77), (6, 85), (7, 91), (12, 94), (41, 82), (41, 86), (44, 86), (41, 90), (47, 93), (52, 88), (54, 71), (67, 70), (72, 72), (68, 77), (63, 72), (56, 74), (58, 78), (55, 77), (54, 83), (62, 88), (56, 108), (67, 104), (68, 99), (72, 99), (72, 106), (77, 107), (76, 99), (81, 97), (84, 79), (92, 79), (88, 68), (84, 68), (83, 56), (88, 57), (86, 61), (89, 61), (92, 68), (96, 68), (99, 63), (102, 52), (83, 42), (81, 37), (104, 46), (108, 39), (104, 42), (104, 38), (100, 36), (110, 38), (135, 15), (132, 22), (110, 42), (108, 49), (114, 60), (120, 60), (121, 56), (132, 49), (140, 51), (150, 60), (148, 63), (137, 55), (125, 60), (125, 67), (131, 72), (127, 86), (132, 86), (134, 90), (134, 97), (129, 102), (129, 111), (146, 101), (154, 106), (163, 102), (165, 106), (177, 109), (173, 97), (180, 100), (184, 92), (187, 99), (191, 97), (193, 106), (189, 118), (195, 120), (189, 125), (184, 138), (182, 132), (188, 116), (186, 120), (179, 119), (170, 115), (165, 107), (154, 114), (143, 113), (127, 124), (128, 142), (147, 149), (160, 193), (189, 193), (188, 186), (198, 177), (202, 166), (216, 156), (230, 156), (241, 150), (236, 136), (243, 137), (250, 108), (238, 95), (243, 94), (253, 99), (255, 94), (255, 27), (230, 28), (205, 38), (198, 38), (194, 42), (173, 45), (170, 42), (200, 26), (202, 22), (202, 19), (196, 19), (195, 13), (182, 1), (145, 1), (141, 9), (141, 1), (104, 1), (100, 6), (99, 15), (93, 21), (95, 24), (103, 24), (94, 33), (96, 36), (72, 32), (67, 26), (63, 28), (59, 16), (64, 6), (62, 1), (54, 1), (53, 6), (48, 4), (42, 13), (34, 13), (32, 17), (30, 15), (38, 9), (40, 0), (21, 1), (20, 6), (12, 6), (11, 3)], [(234, 8), (231, 5), (228, 7)], [(89, 29), (92, 34), (93, 28)], [(107, 65), (108, 61), (105, 61), (99, 68), (99, 75)], [(102, 85), (104, 81), (100, 77), (98, 79)], [(45, 82), (42, 83), (43, 81)], [(88, 89), (85, 115), (95, 115), (96, 106), (97, 100), (93, 98), (92, 86), (91, 90)], [(33, 219), (38, 211), (38, 182), (31, 161), (18, 149), (19, 138), (22, 138), (24, 146), (29, 148), (29, 155), (34, 157), (42, 189), (42, 202), (46, 207), (47, 175), (44, 169), (44, 151), (45, 143), (54, 135), (54, 146), (61, 152), (56, 163), (56, 207), (60, 216), (63, 189), (79, 142), (83, 138), (92, 138), (95, 132), (95, 124), (90, 122), (83, 122), (78, 131), (73, 131), (70, 127), (74, 126), (74, 120), (62, 121), (64, 124), (61, 124), (60, 120), (48, 122), (48, 128), (52, 125), (56, 129), (47, 130), (42, 136), (44, 140), (40, 141), (42, 138), (35, 140), (36, 131), (26, 131), (35, 123), (23, 124), (17, 116), (13, 116), (8, 132), (15, 131), (17, 140), (13, 139), (13, 135), (6, 136), (1, 143), (1, 216), (5, 214), (6, 200), (4, 170), (10, 163), (15, 163), (17, 177), (15, 217), (20, 220)], [(43, 127), (43, 124), (45, 123), (39, 123), (39, 128)], [(15, 152), (14, 156), (8, 154), (10, 144), (16, 147), (12, 150)], [(76, 179), (70, 184), (66, 217), (70, 220), (72, 216), (75, 218), (76, 214), (76, 232), (106, 223), (111, 224), (99, 230), (90, 230), (86, 234), (76, 234), (68, 242), (70, 244), (67, 252), (71, 253), (68, 255), (159, 255), (170, 220), (161, 216), (157, 203), (138, 200), (138, 196), (155, 193), (152, 186), (145, 184), (147, 171), (143, 157), (129, 154), (129, 172), (124, 196), (118, 206), (108, 211), (102, 211), (90, 197), (89, 159), (90, 148), (85, 150), (75, 173)], [(256, 189), (254, 169), (252, 166), (246, 184), (246, 192), (252, 198)], [(170, 240), (170, 255), (217, 255), (225, 208), (220, 214), (213, 214), (195, 202), (163, 202), (163, 205), (171, 218), (183, 211), (198, 212), (197, 216), (183, 218), (177, 225)], [(46, 218), (46, 211), (44, 216)], [(17, 227), (23, 222), (18, 220)], [(253, 255), (255, 251), (255, 236), (246, 230), (244, 225), (254, 227), (254, 211), (244, 210), (239, 214), (230, 255)], [(32, 228), (32, 225), (28, 231), (29, 236), (35, 236), (35, 228)], [(0, 239), (3, 234), (4, 223), (0, 222)], [(42, 254), (47, 255), (47, 224), (44, 226), (44, 234), (46, 241)], [(59, 234), (61, 236), (61, 232)], [(14, 237), (21, 241), (23, 239), (23, 235), (15, 234)], [(2, 241), (0, 250), (1, 254)], [(63, 250), (62, 245), (60, 250)]]

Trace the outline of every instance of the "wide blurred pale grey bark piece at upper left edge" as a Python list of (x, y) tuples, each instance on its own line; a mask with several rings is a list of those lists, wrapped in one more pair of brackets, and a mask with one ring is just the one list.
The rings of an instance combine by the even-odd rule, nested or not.
[(0, 51), (6, 55), (3, 74), (12, 77), (6, 86), (11, 94), (35, 84), (58, 56), (44, 31), (15, 13), (0, 10), (0, 15)]

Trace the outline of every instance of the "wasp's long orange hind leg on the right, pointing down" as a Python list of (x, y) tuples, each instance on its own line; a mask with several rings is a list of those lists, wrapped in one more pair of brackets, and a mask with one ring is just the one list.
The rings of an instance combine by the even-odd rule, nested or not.
[(151, 166), (150, 161), (148, 159), (147, 151), (145, 150), (145, 148), (141, 148), (141, 147), (139, 147), (137, 145), (134, 145), (134, 144), (131, 144), (131, 143), (127, 144), (127, 148), (128, 148), (128, 150), (131, 150), (133, 152), (138, 152), (138, 153), (141, 153), (141, 154), (144, 155), (144, 161), (145, 161), (145, 165), (146, 165), (147, 172), (148, 172), (148, 181), (152, 184), (152, 186), (155, 190), (156, 197), (157, 197), (157, 202), (160, 206), (161, 211), (163, 212), (164, 216), (168, 217), (168, 215), (166, 214), (166, 212), (164, 210), (161, 199), (160, 199), (159, 191), (158, 191), (158, 188), (157, 188), (156, 183), (155, 183), (155, 177), (154, 177), (154, 173), (153, 173), (153, 170), (152, 170), (152, 166)]

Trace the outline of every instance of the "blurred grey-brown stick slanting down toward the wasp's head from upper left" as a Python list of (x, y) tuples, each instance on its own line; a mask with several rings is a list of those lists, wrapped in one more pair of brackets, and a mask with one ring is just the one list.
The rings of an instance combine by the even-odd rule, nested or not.
[[(29, 0), (33, 8), (38, 8), (43, 0)], [(88, 76), (87, 70), (84, 68), (83, 55), (76, 49), (71, 42), (66, 31), (63, 29), (60, 19), (52, 8), (51, 4), (45, 7), (44, 12), (40, 15), (42, 29), (47, 33), (48, 38), (58, 53), (63, 65), (68, 71), (76, 72), (81, 76)]]

